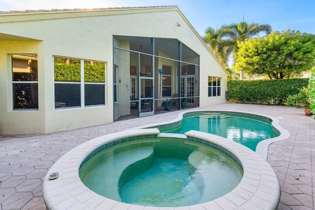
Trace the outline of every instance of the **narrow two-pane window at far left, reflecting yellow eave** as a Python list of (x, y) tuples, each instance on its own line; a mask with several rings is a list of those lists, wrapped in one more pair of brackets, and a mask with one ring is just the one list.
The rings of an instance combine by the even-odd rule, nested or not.
[(13, 55), (12, 92), (14, 110), (38, 110), (37, 55)]

